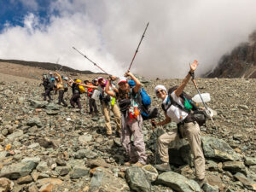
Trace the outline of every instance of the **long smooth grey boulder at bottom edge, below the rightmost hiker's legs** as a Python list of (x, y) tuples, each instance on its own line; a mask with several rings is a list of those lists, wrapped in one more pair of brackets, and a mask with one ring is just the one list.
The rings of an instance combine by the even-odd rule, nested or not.
[(194, 180), (189, 180), (187, 177), (176, 172), (163, 172), (159, 175), (156, 183), (164, 184), (178, 192), (201, 192), (201, 188)]

